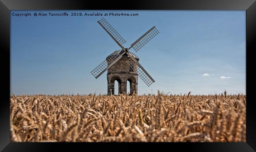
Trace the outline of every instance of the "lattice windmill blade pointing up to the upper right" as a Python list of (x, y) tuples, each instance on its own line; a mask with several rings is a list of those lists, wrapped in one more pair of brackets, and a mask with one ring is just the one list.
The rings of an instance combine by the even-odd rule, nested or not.
[[(159, 31), (156, 29), (155, 26), (153, 26), (145, 34), (143, 34), (140, 38), (138, 38), (133, 44), (131, 44), (130, 48), (134, 48), (134, 50), (137, 52), (140, 48), (142, 48), (148, 41), (150, 41), (158, 33)], [(130, 48), (128, 48), (128, 50)]]

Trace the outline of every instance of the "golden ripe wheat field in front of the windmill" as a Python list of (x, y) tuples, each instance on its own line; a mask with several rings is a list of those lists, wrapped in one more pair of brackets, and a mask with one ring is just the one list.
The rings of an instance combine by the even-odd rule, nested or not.
[(246, 95), (10, 96), (11, 142), (246, 142)]

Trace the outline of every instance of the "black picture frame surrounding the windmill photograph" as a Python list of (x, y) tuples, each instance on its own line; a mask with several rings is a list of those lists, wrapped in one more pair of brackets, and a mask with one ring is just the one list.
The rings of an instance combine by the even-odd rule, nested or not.
[[(1, 110), (0, 110), (0, 150), (3, 151), (52, 151), (83, 148), (93, 150), (160, 150), (164, 145), (168, 151), (180, 150), (236, 152), (256, 150), (256, 108), (255, 91), (256, 67), (256, 2), (255, 0), (172, 0), (172, 1), (104, 1), (97, 0), (0, 0), (0, 50), (1, 50)], [(10, 95), (10, 11), (11, 10), (246, 10), (246, 95), (247, 127), (246, 143), (10, 143), (9, 95)], [(22, 30), (22, 29), (21, 29)], [(117, 146), (122, 146), (117, 148)], [(135, 148), (136, 146), (136, 148)], [(91, 151), (91, 150), (89, 150)], [(176, 151), (176, 150), (175, 150)]]

